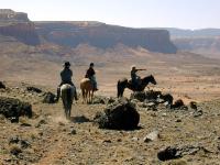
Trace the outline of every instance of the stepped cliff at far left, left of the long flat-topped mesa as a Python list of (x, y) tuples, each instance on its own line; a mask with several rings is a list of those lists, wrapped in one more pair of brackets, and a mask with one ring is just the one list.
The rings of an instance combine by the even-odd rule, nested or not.
[(13, 36), (28, 45), (40, 44), (35, 25), (33, 22), (29, 21), (26, 13), (0, 10), (0, 34)]

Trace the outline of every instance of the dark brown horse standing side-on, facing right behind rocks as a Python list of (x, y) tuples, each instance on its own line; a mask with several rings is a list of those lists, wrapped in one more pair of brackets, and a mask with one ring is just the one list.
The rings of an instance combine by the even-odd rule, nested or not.
[(133, 86), (133, 84), (131, 82), (131, 80), (128, 80), (127, 78), (119, 79), (118, 80), (118, 85), (117, 85), (117, 88), (118, 88), (118, 98), (119, 97), (123, 97), (123, 92), (124, 92), (125, 88), (129, 88), (132, 91), (143, 91), (145, 89), (145, 87), (150, 82), (153, 84), (153, 85), (156, 85), (156, 80), (154, 79), (154, 76), (152, 76), (152, 75), (142, 78), (141, 79), (141, 85), (139, 85), (138, 88), (135, 88)]

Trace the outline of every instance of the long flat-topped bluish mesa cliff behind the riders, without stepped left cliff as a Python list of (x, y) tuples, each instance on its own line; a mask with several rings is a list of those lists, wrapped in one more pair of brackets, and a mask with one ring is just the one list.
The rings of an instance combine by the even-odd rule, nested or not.
[(89, 44), (108, 48), (120, 43), (160, 53), (177, 51), (166, 30), (130, 29), (99, 22), (35, 22), (35, 25), (45, 41), (65, 46)]

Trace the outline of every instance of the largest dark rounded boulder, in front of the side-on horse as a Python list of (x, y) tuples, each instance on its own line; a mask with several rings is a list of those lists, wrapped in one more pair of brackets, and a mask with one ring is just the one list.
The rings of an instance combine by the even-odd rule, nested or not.
[(109, 105), (103, 113), (98, 113), (95, 121), (101, 129), (133, 130), (138, 128), (140, 114), (133, 103), (122, 98)]

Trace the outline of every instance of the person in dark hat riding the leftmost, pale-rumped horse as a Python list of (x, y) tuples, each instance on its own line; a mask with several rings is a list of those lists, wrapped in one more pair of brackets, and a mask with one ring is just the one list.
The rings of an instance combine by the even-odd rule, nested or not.
[[(70, 67), (70, 63), (69, 62), (65, 62), (63, 66), (64, 66), (64, 69), (61, 72), (62, 82), (59, 84), (59, 86), (57, 88), (56, 101), (58, 101), (58, 99), (61, 97), (61, 86), (62, 85), (69, 84), (76, 89), (75, 85), (72, 81), (73, 72), (69, 68)], [(75, 90), (75, 99), (78, 100), (76, 90)]]

